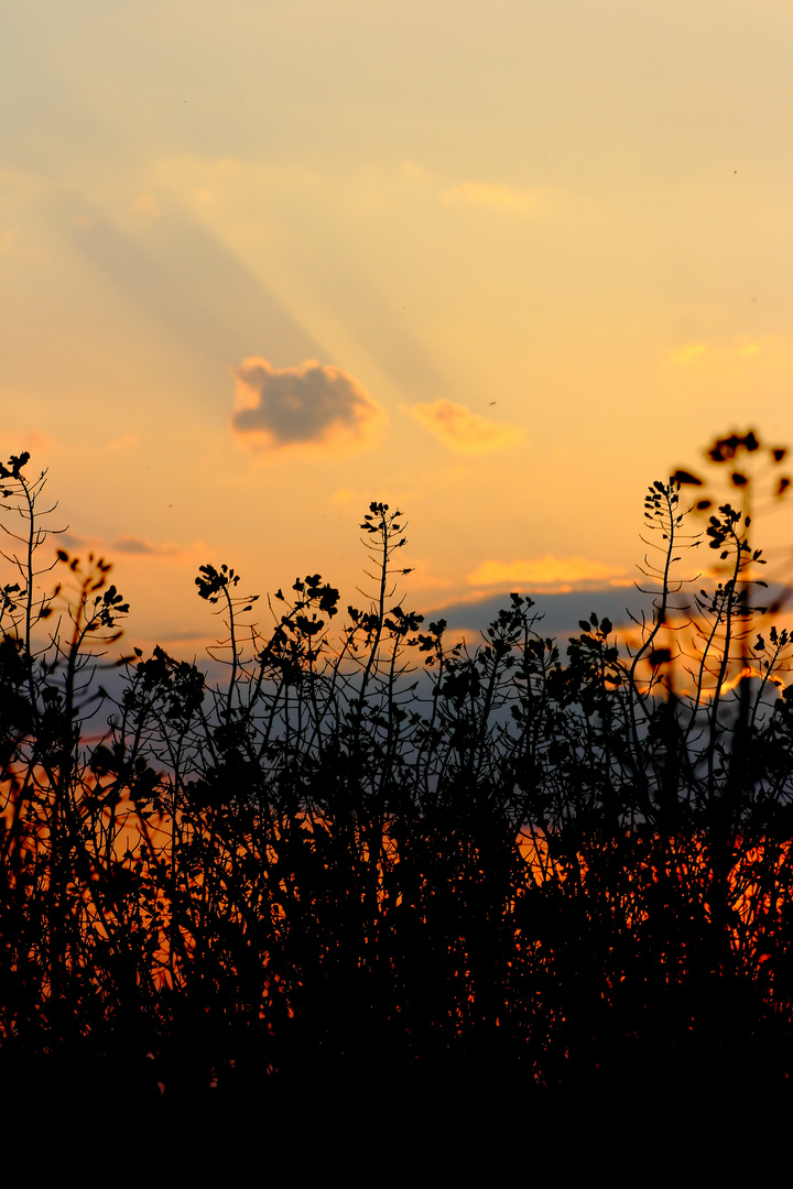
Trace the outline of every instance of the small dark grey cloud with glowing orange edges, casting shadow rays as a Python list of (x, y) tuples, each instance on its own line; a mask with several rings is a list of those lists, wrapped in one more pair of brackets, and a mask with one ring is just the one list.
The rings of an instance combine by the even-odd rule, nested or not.
[(298, 367), (273, 367), (253, 357), (232, 375), (237, 390), (232, 427), (253, 447), (355, 447), (369, 441), (385, 416), (348, 372), (313, 359)]

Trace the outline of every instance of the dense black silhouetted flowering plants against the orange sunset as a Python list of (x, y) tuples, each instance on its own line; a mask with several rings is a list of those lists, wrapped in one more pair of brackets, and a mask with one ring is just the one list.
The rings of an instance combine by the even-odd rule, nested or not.
[[(655, 483), (634, 644), (593, 615), (562, 655), (518, 594), (447, 646), (395, 593), (402, 514), (372, 504), (371, 603), (340, 630), (319, 574), (276, 592), (268, 634), (206, 565), (227, 678), (136, 649), (111, 697), (127, 605), (102, 559), (51, 564), (27, 465), (0, 467), (6, 1077), (157, 1100), (783, 1084), (791, 641), (756, 619), (748, 517), (723, 503), (700, 534), (693, 477)], [(687, 593), (700, 540), (723, 573)]]

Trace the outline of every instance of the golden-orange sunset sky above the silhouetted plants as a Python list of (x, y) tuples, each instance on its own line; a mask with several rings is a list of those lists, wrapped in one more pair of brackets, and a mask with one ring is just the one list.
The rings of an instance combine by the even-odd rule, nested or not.
[(206, 562), (360, 605), (371, 501), (405, 608), (624, 605), (650, 483), (793, 445), (787, 0), (0, 12), (0, 451), (131, 643)]

